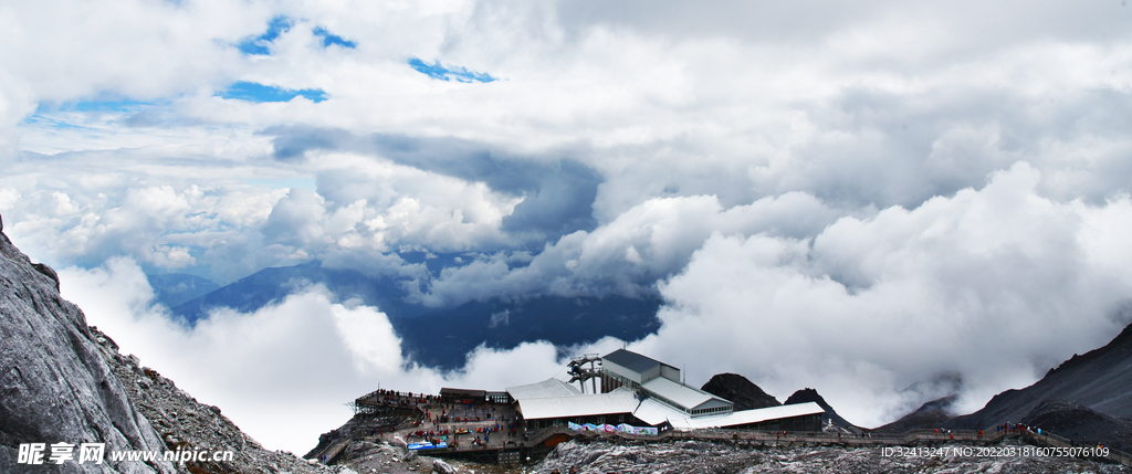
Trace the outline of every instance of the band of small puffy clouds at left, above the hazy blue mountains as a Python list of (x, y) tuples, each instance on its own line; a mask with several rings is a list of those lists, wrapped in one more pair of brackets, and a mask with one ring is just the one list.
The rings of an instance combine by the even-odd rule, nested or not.
[[(380, 252), (403, 247), (507, 245), (513, 239), (501, 231), (503, 219), (523, 201), (482, 182), (375, 157), (324, 154), (299, 170), (246, 160), (243, 175), (278, 178), (205, 179), (207, 165), (146, 169), (142, 157), (120, 160), (138, 166), (135, 173), (17, 166), (0, 178), (8, 234), (55, 266), (97, 266), (129, 255), (152, 265), (149, 270), (196, 266), (228, 282), (310, 258), (385, 268), (396, 264), (384, 264), (388, 258)], [(318, 191), (278, 188), (295, 175), (315, 176)]]

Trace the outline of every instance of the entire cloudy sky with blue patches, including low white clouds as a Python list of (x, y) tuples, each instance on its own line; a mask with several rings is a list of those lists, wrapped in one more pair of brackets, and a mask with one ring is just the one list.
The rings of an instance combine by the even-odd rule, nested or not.
[(300, 455), (378, 385), (563, 361), (419, 367), (318, 286), (186, 328), (145, 274), (655, 293), (628, 346), (692, 385), (967, 413), (1132, 322), (1130, 26), (1123, 0), (9, 2), (0, 215), (123, 352)]

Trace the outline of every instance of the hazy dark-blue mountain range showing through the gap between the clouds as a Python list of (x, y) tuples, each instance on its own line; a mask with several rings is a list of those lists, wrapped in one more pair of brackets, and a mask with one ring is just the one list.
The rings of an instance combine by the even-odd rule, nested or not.
[(282, 301), (297, 287), (323, 284), (336, 301), (357, 298), (380, 309), (389, 316), (406, 356), (444, 369), (463, 367), (468, 352), (480, 344), (512, 348), (535, 341), (567, 346), (604, 336), (635, 341), (660, 327), (657, 319), (661, 304), (659, 295), (640, 299), (618, 295), (496, 298), (437, 309), (405, 302), (402, 283), (404, 281), (372, 277), (357, 270), (324, 268), (316, 261), (265, 268), (172, 310), (189, 325), (195, 325), (207, 318), (212, 308), (251, 312)]

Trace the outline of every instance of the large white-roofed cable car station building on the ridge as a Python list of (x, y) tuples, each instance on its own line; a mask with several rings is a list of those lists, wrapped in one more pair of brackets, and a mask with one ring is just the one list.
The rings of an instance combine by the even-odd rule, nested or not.
[(628, 423), (677, 430), (748, 428), (820, 431), (824, 413), (815, 403), (735, 411), (730, 400), (684, 385), (676, 367), (618, 350), (601, 357), (601, 393), (558, 379), (507, 388), (528, 428), (566, 423)]

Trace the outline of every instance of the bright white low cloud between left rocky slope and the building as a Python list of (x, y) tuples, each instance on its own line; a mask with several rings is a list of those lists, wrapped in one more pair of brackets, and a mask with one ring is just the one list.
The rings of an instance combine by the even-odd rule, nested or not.
[(424, 393), (444, 386), (501, 389), (560, 370), (555, 347), (546, 343), (504, 352), (481, 347), (460, 372), (406, 369), (400, 339), (379, 309), (331, 303), (321, 287), (254, 313), (222, 309), (189, 329), (152, 305), (153, 291), (129, 259), (92, 270), (65, 268), (60, 282), (65, 298), (123, 353), (138, 355), (201, 403), (220, 406), (268, 449), (297, 455), (350, 417), (344, 403), (379, 386)]

